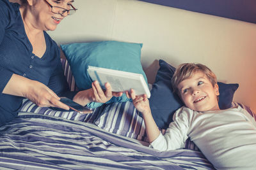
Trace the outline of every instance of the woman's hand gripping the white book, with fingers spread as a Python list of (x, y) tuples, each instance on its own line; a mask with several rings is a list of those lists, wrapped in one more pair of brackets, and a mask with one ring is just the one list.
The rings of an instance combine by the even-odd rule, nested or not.
[(73, 101), (83, 106), (90, 102), (106, 103), (113, 96), (120, 97), (123, 92), (112, 92), (111, 85), (105, 84), (106, 90), (102, 90), (98, 81), (93, 81), (92, 89), (83, 90), (78, 92), (74, 97)]

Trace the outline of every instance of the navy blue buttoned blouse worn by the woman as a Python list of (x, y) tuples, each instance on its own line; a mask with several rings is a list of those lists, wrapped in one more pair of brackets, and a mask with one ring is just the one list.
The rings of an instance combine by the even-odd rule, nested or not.
[(32, 53), (33, 47), (26, 35), (19, 8), (17, 3), (0, 0), (0, 126), (17, 116), (22, 104), (23, 97), (3, 94), (13, 73), (44, 83), (58, 96), (72, 98), (76, 94), (67, 92), (60, 49), (45, 31), (44, 55), (39, 58)]

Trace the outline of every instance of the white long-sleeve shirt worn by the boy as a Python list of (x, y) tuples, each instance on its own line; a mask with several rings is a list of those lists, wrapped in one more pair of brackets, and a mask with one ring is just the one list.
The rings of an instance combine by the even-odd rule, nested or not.
[(240, 106), (205, 112), (182, 107), (164, 136), (159, 134), (150, 146), (184, 148), (188, 137), (216, 169), (256, 169), (256, 122)]

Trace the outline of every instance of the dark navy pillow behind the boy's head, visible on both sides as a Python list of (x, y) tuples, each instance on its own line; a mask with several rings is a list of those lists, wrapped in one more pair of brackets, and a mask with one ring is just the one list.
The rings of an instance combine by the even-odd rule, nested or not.
[[(156, 124), (161, 129), (166, 129), (170, 122), (173, 121), (173, 114), (184, 104), (177, 94), (173, 93), (172, 76), (175, 67), (171, 66), (164, 60), (159, 60), (159, 70), (157, 71), (156, 80), (152, 86), (151, 97), (149, 99), (152, 116)], [(238, 84), (226, 84), (218, 82), (220, 97), (220, 109), (231, 107), (234, 92)]]

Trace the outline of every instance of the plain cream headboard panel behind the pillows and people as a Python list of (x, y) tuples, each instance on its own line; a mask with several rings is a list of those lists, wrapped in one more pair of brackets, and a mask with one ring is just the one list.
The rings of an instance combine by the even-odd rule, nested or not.
[[(75, 15), (49, 34), (57, 43), (120, 40), (143, 43), (141, 63), (200, 62), (225, 83), (234, 101), (256, 111), (256, 24), (136, 0), (76, 0)], [(256, 16), (255, 16), (256, 17)]]

